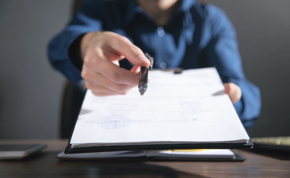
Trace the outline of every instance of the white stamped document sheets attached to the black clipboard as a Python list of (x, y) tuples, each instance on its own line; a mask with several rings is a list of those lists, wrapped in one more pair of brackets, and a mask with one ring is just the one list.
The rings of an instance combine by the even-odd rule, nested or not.
[(149, 78), (144, 96), (137, 87), (106, 97), (87, 90), (71, 148), (249, 141), (214, 67), (152, 70)]

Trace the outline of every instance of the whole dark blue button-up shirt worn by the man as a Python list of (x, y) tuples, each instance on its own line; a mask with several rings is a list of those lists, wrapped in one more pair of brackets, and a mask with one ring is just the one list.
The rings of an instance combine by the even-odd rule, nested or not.
[[(226, 14), (210, 4), (180, 0), (167, 23), (158, 26), (133, 0), (88, 1), (65, 29), (49, 44), (52, 65), (72, 82), (81, 80), (81, 66), (70, 53), (77, 39), (87, 32), (112, 31), (126, 36), (143, 52), (154, 56), (154, 68), (194, 69), (216, 67), (223, 82), (233, 82), (242, 90), (234, 104), (246, 128), (260, 114), (258, 87), (243, 73), (235, 29)], [(131, 69), (128, 60), (120, 66)]]

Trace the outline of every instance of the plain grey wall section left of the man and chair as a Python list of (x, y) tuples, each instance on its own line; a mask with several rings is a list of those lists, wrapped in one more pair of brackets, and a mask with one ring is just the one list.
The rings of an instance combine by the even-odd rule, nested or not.
[(46, 46), (70, 8), (69, 0), (0, 1), (0, 139), (58, 137), (64, 78)]

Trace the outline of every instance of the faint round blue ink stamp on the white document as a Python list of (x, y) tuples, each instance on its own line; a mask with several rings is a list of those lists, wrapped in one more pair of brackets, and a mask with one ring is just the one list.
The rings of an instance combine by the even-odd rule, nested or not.
[(104, 129), (120, 129), (130, 125), (131, 120), (123, 115), (110, 115), (100, 118), (97, 123)]

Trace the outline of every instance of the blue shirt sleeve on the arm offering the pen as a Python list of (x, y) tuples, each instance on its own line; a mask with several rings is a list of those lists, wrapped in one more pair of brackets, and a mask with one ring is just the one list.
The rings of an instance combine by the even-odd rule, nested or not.
[(69, 52), (69, 50), (79, 49), (69, 48), (80, 36), (88, 32), (103, 30), (104, 9), (102, 1), (87, 2), (64, 30), (57, 34), (48, 45), (48, 57), (52, 66), (74, 83), (82, 79), (81, 70), (79, 66), (74, 65), (76, 63), (73, 63), (70, 58), (72, 57), (70, 54), (78, 54), (78, 52)]

